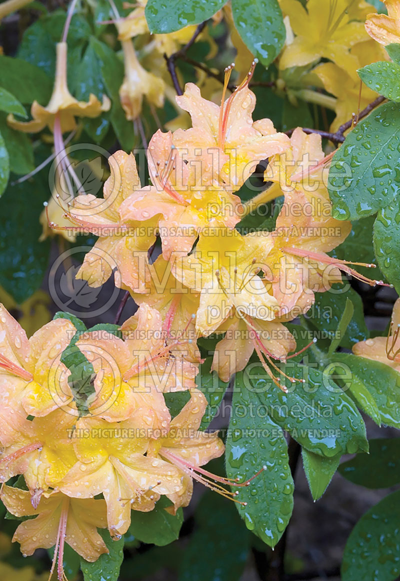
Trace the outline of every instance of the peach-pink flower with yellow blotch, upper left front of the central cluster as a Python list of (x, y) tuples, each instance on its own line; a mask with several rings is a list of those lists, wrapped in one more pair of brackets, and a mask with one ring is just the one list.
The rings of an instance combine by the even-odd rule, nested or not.
[(151, 138), (148, 152), (153, 186), (132, 193), (119, 212), (124, 222), (158, 216), (166, 260), (173, 252), (190, 252), (202, 229), (233, 228), (238, 223), (240, 198), (223, 188), (199, 185), (200, 168), (196, 163), (185, 163), (180, 150), (173, 145), (171, 132), (158, 130)]

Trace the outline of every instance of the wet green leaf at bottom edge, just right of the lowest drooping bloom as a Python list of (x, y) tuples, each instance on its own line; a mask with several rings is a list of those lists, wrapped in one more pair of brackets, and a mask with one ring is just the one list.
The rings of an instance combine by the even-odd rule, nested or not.
[(90, 563), (81, 558), (81, 570), (84, 581), (117, 581), (124, 553), (124, 539), (112, 540), (106, 529), (99, 529), (109, 554), (100, 555), (97, 561)]

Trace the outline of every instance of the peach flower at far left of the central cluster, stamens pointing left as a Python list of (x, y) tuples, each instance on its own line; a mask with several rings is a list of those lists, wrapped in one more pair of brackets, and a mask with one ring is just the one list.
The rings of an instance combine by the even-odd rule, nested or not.
[[(122, 223), (120, 219), (118, 210), (123, 201), (140, 188), (133, 153), (117, 151), (109, 157), (109, 164), (111, 174), (104, 184), (104, 198), (77, 196), (66, 213), (78, 230), (99, 236), (93, 249), (85, 254), (76, 278), (101, 286), (115, 270), (116, 286), (145, 292), (140, 269), (147, 263), (147, 251), (155, 242), (155, 227), (151, 221)], [(52, 227), (60, 229), (56, 224)]]

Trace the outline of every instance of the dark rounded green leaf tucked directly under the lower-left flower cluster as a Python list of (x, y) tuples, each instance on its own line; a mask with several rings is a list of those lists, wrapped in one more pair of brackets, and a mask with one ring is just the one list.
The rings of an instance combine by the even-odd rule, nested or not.
[(142, 541), (163, 547), (178, 539), (183, 523), (183, 510), (178, 508), (176, 515), (165, 509), (171, 502), (162, 496), (150, 512), (132, 511), (128, 532)]

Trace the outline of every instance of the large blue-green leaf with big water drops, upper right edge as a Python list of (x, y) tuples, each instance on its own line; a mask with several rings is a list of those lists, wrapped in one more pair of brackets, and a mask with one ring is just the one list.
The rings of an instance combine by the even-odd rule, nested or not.
[(333, 216), (372, 216), (399, 193), (400, 105), (385, 103), (361, 120), (333, 156), (328, 190)]

